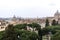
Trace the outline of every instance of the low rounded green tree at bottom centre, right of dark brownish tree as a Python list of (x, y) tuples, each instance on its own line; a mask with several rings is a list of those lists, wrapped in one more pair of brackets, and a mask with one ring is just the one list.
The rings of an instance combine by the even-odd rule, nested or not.
[(37, 40), (38, 34), (34, 31), (28, 30), (16, 30), (21, 40)]

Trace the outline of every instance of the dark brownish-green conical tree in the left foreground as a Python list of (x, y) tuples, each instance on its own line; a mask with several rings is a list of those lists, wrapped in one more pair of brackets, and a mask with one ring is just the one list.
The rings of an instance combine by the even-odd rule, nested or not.
[(17, 34), (14, 31), (13, 25), (8, 25), (8, 27), (6, 27), (5, 33), (2, 39), (3, 40), (17, 40)]

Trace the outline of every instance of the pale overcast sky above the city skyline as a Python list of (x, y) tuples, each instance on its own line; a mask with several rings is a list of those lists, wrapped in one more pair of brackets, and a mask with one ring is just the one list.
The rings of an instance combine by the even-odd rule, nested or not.
[(0, 17), (46, 17), (60, 11), (60, 0), (0, 0)]

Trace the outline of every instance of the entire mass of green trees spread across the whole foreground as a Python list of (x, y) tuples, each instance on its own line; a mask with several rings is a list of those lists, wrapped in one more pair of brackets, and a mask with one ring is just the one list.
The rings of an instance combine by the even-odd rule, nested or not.
[[(27, 26), (35, 30), (29, 31)], [(36, 30), (38, 33), (35, 32)], [(42, 40), (42, 36), (48, 35), (49, 32), (52, 34), (51, 40), (60, 39), (60, 25), (48, 26), (43, 29), (37, 23), (8, 25), (5, 31), (0, 32), (0, 40)]]

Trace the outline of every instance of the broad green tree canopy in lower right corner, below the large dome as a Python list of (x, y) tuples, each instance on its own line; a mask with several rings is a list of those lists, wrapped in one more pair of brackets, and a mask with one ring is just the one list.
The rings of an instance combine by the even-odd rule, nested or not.
[(46, 32), (51, 32), (52, 34), (51, 40), (60, 40), (60, 25), (49, 26), (49, 27), (46, 27), (45, 30), (44, 30), (45, 31), (44, 34)]

